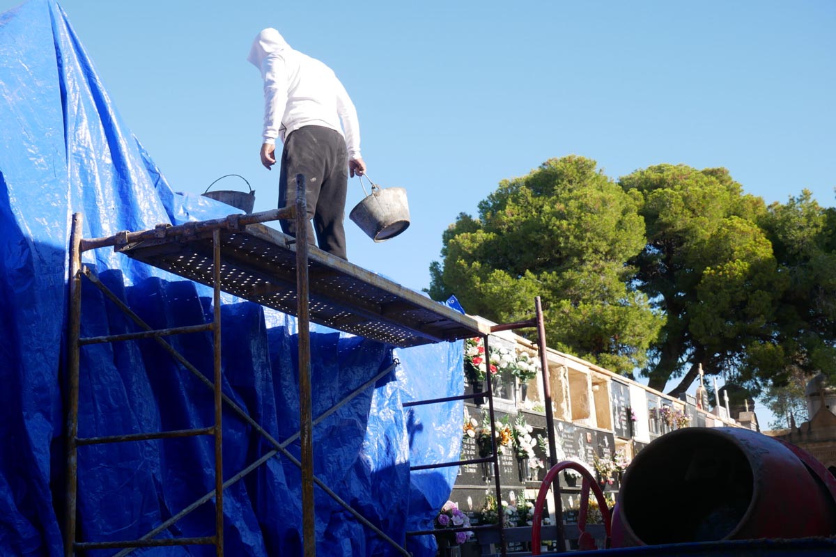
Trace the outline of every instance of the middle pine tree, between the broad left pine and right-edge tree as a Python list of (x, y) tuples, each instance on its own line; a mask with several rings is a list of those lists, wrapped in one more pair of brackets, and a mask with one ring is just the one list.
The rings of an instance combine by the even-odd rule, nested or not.
[(647, 226), (633, 260), (640, 288), (666, 317), (645, 374), (660, 390), (684, 375), (678, 394), (699, 363), (710, 374), (740, 365), (762, 332), (778, 280), (769, 241), (753, 222), (766, 208), (723, 169), (658, 165), (620, 183), (639, 196)]

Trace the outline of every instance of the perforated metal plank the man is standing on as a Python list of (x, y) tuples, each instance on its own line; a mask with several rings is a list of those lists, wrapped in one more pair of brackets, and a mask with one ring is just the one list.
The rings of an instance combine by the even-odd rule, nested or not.
[[(264, 225), (221, 230), (222, 290), (290, 315), (296, 311), (293, 239)], [(137, 261), (212, 285), (212, 231), (116, 246)], [(314, 246), (308, 258), (312, 322), (410, 347), (487, 334), (487, 326)]]

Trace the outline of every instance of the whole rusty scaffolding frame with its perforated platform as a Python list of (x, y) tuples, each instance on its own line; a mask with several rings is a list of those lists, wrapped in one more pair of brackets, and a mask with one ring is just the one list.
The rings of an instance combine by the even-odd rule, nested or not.
[[(538, 327), (540, 356), (543, 369), (548, 369), (545, 361), (545, 336), (543, 314), (536, 300), (537, 319), (528, 322), (509, 323), (489, 326), (470, 316), (463, 315), (444, 304), (432, 301), (415, 291), (376, 275), (370, 271), (344, 261), (314, 246), (308, 246), (303, 236), (297, 240), (262, 223), (270, 220), (294, 220), (296, 230), (303, 230), (303, 222), (297, 215), (307, 215), (305, 209), (304, 177), (297, 175), (296, 204), (293, 207), (264, 211), (247, 215), (228, 215), (215, 220), (189, 222), (183, 225), (157, 225), (152, 230), (137, 232), (122, 231), (116, 235), (102, 238), (84, 239), (82, 237), (83, 215), (73, 215), (73, 230), (69, 253), (69, 300), (70, 318), (68, 323), (68, 428), (67, 428), (67, 494), (66, 524), (64, 529), (65, 554), (72, 557), (76, 550), (123, 549), (116, 557), (130, 552), (132, 548), (162, 545), (212, 544), (216, 554), (223, 555), (223, 492), (224, 489), (242, 479), (247, 473), (258, 468), (269, 459), (283, 455), (301, 471), (302, 486), (302, 533), (304, 553), (315, 554), (314, 528), (314, 484), (352, 514), (365, 527), (375, 532), (390, 544), (398, 554), (408, 557), (397, 541), (391, 539), (383, 530), (366, 519), (339, 495), (328, 488), (314, 475), (314, 450), (312, 430), (317, 421), (313, 418), (312, 385), (310, 380), (310, 338), (309, 323), (315, 322), (326, 327), (350, 332), (362, 337), (385, 342), (396, 347), (414, 347), (435, 342), (449, 342), (462, 338), (482, 337), (486, 352), (489, 351), (488, 337), (492, 332), (511, 330), (519, 327)], [(169, 271), (191, 281), (212, 287), (212, 322), (191, 327), (176, 327), (155, 331), (135, 315), (118, 296), (110, 292), (95, 277), (93, 271), (82, 265), (84, 251), (112, 247), (116, 252), (130, 256), (136, 261)], [(94, 286), (99, 287), (105, 297), (120, 307), (135, 324), (143, 329), (140, 332), (128, 332), (108, 337), (80, 337), (81, 332), (81, 281), (86, 277)], [(238, 407), (222, 392), (222, 357), (221, 357), (221, 292), (227, 292), (244, 300), (268, 306), (288, 315), (298, 317), (298, 388), (299, 388), (299, 423), (298, 432), (301, 447), (301, 459), (289, 453), (285, 443), (279, 443), (264, 430), (247, 412)], [(212, 375), (201, 372), (188, 362), (180, 352), (171, 347), (163, 337), (185, 332), (212, 331)], [(79, 438), (79, 381), (80, 352), (83, 346), (94, 342), (117, 342), (153, 337), (155, 342), (169, 352), (181, 364), (184, 370), (191, 372), (207, 387), (212, 389), (214, 398), (215, 423), (209, 428), (194, 428), (172, 432), (140, 432), (104, 438)], [(374, 384), (380, 377), (391, 372), (398, 365), (397, 359), (392, 365), (370, 380)], [(209, 377), (212, 377), (210, 379)], [(545, 397), (547, 399), (547, 423), (550, 395), (548, 381)], [(349, 394), (334, 408), (344, 403), (349, 397), (365, 387)], [(404, 406), (418, 406), (443, 403), (451, 400), (463, 400), (476, 397), (487, 398), (487, 407), (491, 416), (492, 437), (496, 420), (494, 419), (491, 383), (487, 382), (486, 392), (472, 392), (453, 397), (413, 401)], [(249, 423), (273, 446), (268, 453), (250, 463), (226, 482), (223, 481), (222, 463), (222, 407), (226, 404), (239, 418)], [(325, 413), (323, 416), (327, 416)], [(552, 428), (553, 429), (553, 428)], [(551, 429), (550, 429), (551, 430)], [(186, 506), (151, 529), (140, 539), (116, 541), (79, 541), (77, 532), (78, 514), (78, 448), (82, 445), (100, 443), (121, 443), (149, 438), (174, 438), (184, 436), (212, 435), (215, 445), (215, 487), (194, 503)], [(553, 454), (553, 438), (550, 438)], [(490, 463), (494, 469), (494, 484), (497, 500), (501, 499), (502, 487), (499, 481), (499, 459), (496, 450), (491, 455), (471, 461), (454, 461), (410, 467), (410, 470), (426, 468), (444, 468), (464, 463)], [(229, 475), (227, 473), (227, 475)], [(169, 529), (186, 514), (191, 513), (201, 504), (215, 501), (215, 533), (202, 538), (157, 538), (158, 534)], [(558, 502), (556, 502), (559, 505)], [(559, 509), (559, 506), (556, 507)], [(559, 511), (558, 511), (559, 512)], [(469, 529), (498, 529), (500, 553), (506, 554), (504, 521), (491, 526), (477, 526)], [(407, 535), (420, 535), (428, 532), (408, 532)], [(431, 533), (431, 532), (429, 532)]]

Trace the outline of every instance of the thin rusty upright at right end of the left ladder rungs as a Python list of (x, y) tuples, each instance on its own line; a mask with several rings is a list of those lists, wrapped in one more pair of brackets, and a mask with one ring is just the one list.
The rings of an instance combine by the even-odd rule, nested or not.
[(221, 230), (212, 230), (214, 292), (212, 297), (212, 337), (215, 363), (215, 540), (217, 557), (223, 557), (223, 427), (221, 378)]

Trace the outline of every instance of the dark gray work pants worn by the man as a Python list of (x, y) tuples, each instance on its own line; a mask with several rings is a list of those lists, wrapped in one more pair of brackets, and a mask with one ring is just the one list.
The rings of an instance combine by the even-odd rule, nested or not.
[[(279, 208), (296, 202), (298, 174), (305, 176), (308, 242), (314, 242), (316, 230), (320, 249), (347, 259), (343, 223), (349, 161), (342, 134), (323, 126), (303, 126), (284, 139), (278, 179)], [(285, 234), (295, 235), (292, 220), (281, 220), (280, 224)]]

